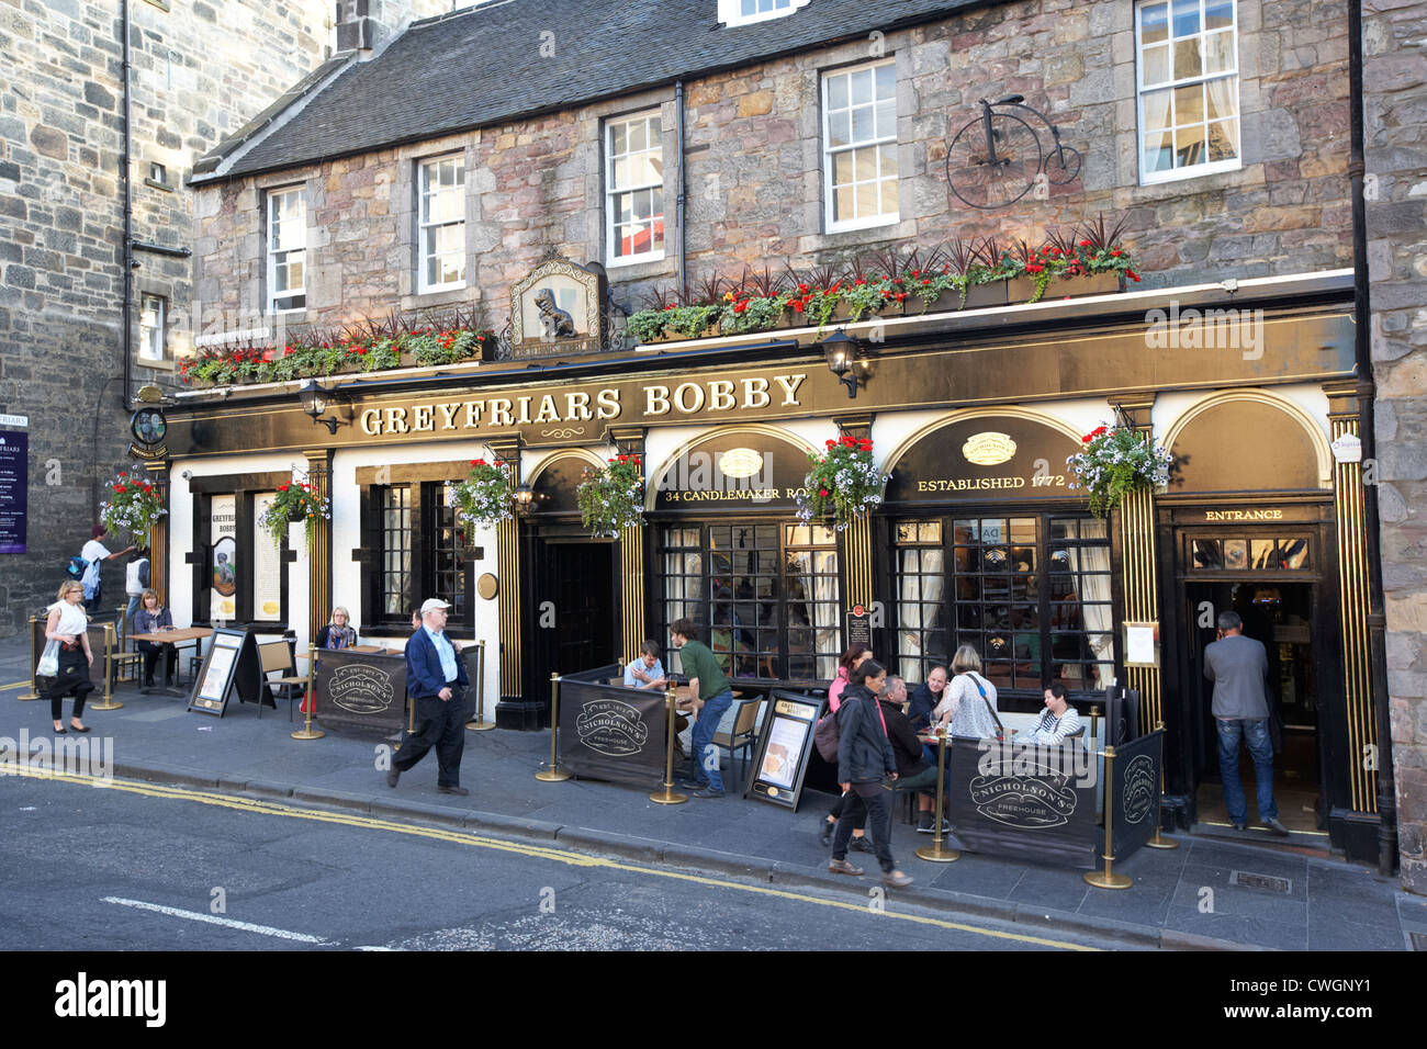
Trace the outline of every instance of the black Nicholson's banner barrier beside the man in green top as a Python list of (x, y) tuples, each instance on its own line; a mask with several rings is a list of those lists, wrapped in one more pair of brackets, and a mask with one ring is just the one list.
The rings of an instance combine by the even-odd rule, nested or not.
[(654, 788), (664, 782), (665, 692), (611, 685), (621, 667), (559, 679), (559, 768), (586, 779)]

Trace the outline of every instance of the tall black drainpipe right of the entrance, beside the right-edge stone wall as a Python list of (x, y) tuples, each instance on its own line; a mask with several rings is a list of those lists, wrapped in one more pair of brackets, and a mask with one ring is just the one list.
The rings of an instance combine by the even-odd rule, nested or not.
[[(1364, 391), (1359, 407), (1363, 420), (1363, 460), (1377, 451), (1377, 430), (1373, 384), (1373, 313), (1367, 280), (1367, 201), (1363, 198), (1364, 156), (1367, 128), (1363, 116), (1363, 3), (1353, 0), (1347, 7), (1349, 40), (1349, 106), (1351, 111), (1351, 151), (1349, 177), (1353, 193), (1353, 310), (1356, 321), (1356, 358), (1360, 388)], [(1377, 518), (1377, 485), (1363, 485), (1367, 552), (1367, 654), (1368, 679), (1373, 691), (1373, 714), (1377, 719), (1377, 869), (1391, 876), (1397, 869), (1397, 795), (1393, 776), (1393, 729), (1387, 691), (1387, 617), (1383, 612), (1383, 565)], [(1353, 755), (1356, 759), (1356, 755)]]

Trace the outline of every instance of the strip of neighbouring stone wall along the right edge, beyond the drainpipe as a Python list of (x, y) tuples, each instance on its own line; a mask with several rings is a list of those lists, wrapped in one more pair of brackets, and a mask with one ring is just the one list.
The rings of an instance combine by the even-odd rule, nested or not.
[(1427, 3), (1364, 3), (1387, 686), (1403, 885), (1427, 893)]

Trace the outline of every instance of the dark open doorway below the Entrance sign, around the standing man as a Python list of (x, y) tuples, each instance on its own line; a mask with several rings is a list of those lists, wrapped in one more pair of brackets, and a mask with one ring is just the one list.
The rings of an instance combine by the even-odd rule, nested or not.
[[(1212, 681), (1204, 678), (1204, 648), (1216, 639), (1214, 617), (1233, 609), (1244, 622), (1244, 635), (1263, 642), (1269, 655), (1269, 702), (1277, 719), (1273, 789), (1279, 819), (1290, 831), (1326, 826), (1323, 796), (1323, 746), (1320, 732), (1320, 671), (1313, 659), (1314, 582), (1281, 577), (1244, 577), (1233, 581), (1186, 582), (1189, 644), (1184, 686), (1194, 711), (1194, 781), (1199, 821), (1227, 824), (1213, 718)], [(1247, 748), (1240, 751), (1239, 772), (1249, 798), (1250, 822), (1257, 821), (1254, 769)]]

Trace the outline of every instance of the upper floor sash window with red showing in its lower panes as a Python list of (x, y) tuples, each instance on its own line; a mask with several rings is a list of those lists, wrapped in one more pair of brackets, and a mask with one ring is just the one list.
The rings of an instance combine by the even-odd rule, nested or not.
[(658, 114), (611, 120), (605, 131), (609, 264), (664, 258), (664, 146)]

